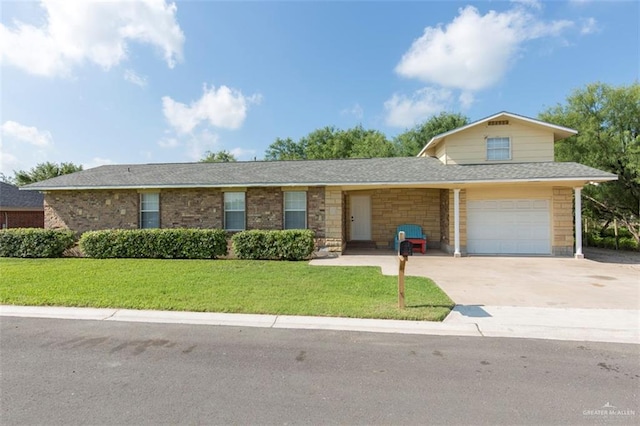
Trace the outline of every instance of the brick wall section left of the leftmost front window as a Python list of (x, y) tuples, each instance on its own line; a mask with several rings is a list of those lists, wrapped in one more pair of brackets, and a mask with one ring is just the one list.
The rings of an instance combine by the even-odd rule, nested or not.
[(44, 195), (44, 226), (85, 232), (138, 227), (135, 190), (52, 191)]

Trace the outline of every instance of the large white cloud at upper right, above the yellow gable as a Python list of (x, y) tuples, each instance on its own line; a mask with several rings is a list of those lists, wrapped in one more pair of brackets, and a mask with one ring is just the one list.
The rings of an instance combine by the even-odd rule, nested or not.
[(505, 12), (481, 15), (466, 6), (446, 26), (427, 27), (396, 66), (404, 77), (444, 87), (477, 91), (492, 86), (516, 59), (522, 44), (557, 36), (573, 26), (571, 21), (545, 22), (520, 2)]

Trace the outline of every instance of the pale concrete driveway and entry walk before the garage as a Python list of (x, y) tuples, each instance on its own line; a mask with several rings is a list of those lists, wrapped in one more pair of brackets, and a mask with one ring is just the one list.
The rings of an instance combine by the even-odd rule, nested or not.
[[(640, 309), (640, 255), (587, 250), (557, 257), (412, 256), (408, 275), (431, 278), (458, 305)], [(316, 265), (380, 266), (397, 275), (397, 256), (343, 255)]]

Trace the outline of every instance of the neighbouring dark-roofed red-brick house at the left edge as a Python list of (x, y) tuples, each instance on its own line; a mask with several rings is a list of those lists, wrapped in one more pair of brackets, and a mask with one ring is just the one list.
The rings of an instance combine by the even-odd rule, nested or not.
[(44, 228), (43, 195), (0, 182), (0, 224), (2, 229)]

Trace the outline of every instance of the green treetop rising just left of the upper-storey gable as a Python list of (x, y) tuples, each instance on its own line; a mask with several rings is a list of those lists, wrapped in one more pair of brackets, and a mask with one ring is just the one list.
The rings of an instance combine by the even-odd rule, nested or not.
[(414, 157), (432, 137), (469, 123), (469, 119), (459, 113), (441, 112), (422, 124), (399, 134), (394, 138), (395, 154), (398, 157)]

